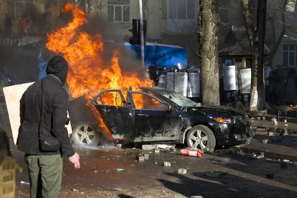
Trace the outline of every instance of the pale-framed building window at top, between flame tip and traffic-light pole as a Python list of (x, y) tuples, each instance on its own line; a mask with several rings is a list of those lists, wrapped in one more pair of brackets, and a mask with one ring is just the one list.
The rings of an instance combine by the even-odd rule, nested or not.
[(108, 0), (107, 19), (109, 21), (130, 22), (130, 0)]

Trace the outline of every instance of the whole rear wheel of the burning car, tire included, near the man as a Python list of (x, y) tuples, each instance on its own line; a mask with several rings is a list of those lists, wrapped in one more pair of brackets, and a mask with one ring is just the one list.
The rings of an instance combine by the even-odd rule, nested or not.
[(75, 145), (97, 146), (102, 139), (98, 126), (87, 122), (80, 122), (72, 129), (72, 139)]

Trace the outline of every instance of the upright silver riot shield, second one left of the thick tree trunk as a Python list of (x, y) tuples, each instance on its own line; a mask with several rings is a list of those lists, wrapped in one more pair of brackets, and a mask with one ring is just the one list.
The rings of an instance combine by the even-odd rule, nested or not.
[(173, 84), (174, 84), (173, 91), (183, 95), (184, 97), (187, 97), (188, 73), (175, 72)]

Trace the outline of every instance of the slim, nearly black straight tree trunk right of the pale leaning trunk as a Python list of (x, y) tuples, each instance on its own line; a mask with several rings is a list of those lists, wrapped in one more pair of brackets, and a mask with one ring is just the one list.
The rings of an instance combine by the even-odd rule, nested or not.
[(267, 0), (259, 0), (257, 8), (257, 31), (258, 37), (258, 101), (257, 106), (262, 106), (264, 101), (264, 41), (266, 30), (266, 6)]

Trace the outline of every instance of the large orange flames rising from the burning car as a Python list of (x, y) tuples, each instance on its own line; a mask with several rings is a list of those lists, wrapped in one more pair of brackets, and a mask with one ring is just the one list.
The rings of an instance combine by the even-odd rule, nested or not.
[[(76, 8), (74, 4), (67, 3), (62, 12), (72, 12), (73, 20), (65, 27), (56, 32), (48, 34), (46, 47), (54, 53), (62, 53), (69, 65), (67, 83), (70, 87), (72, 97), (77, 98), (85, 95), (88, 105), (91, 106), (94, 115), (99, 119), (99, 125), (103, 131), (108, 132), (102, 118), (93, 104), (93, 99), (99, 92), (108, 89), (120, 89), (125, 98), (127, 90), (131, 87), (150, 87), (151, 80), (141, 80), (137, 73), (123, 73), (118, 63), (119, 51), (113, 51), (111, 65), (106, 65), (103, 60), (103, 49), (101, 35), (92, 37), (86, 32), (79, 32), (78, 28), (87, 23), (86, 13)], [(119, 104), (115, 101), (114, 94), (106, 95), (111, 105)], [(118, 99), (117, 99), (118, 100)], [(142, 103), (142, 97), (135, 99), (136, 103)]]

